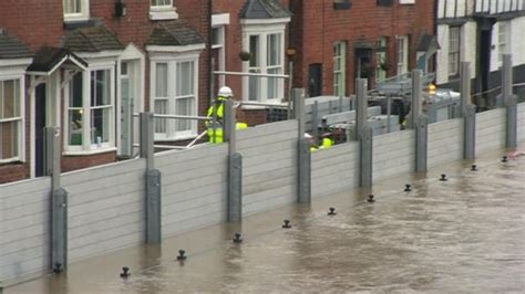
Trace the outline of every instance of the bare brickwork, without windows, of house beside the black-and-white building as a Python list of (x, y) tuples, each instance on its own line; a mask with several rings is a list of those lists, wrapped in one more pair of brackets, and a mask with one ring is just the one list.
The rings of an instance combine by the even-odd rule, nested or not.
[[(380, 36), (389, 36), (389, 75), (394, 75), (395, 35), (411, 34), (409, 70), (412, 69), (420, 35), (423, 31), (433, 33), (434, 1), (416, 1), (413, 6), (393, 2), (390, 7), (379, 7), (375, 1), (352, 1), (351, 9), (334, 10), (332, 1), (291, 0), (295, 15), (290, 42), (299, 53), (295, 60), (295, 86), (307, 88), (308, 65), (321, 63), (322, 93), (332, 94), (332, 46), (338, 41), (347, 41), (347, 94), (353, 93), (356, 42), (375, 44)], [(372, 63), (375, 64), (375, 60)]]

